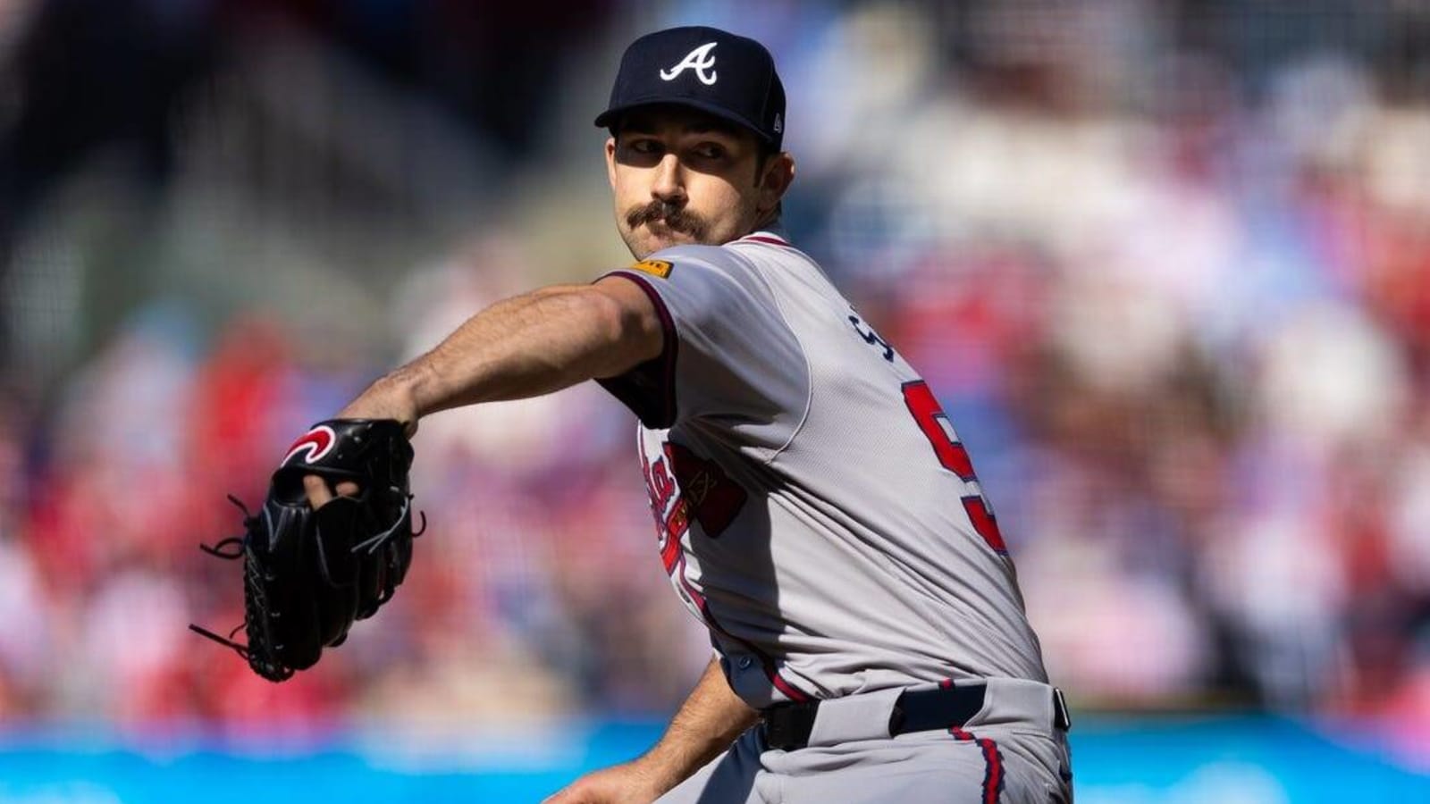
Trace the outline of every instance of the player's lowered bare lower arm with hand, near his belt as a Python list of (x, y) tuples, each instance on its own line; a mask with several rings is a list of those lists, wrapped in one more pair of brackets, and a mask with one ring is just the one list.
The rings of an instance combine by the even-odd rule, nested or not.
[(641, 758), (581, 777), (546, 804), (646, 804), (729, 748), (758, 712), (741, 701), (711, 660), (659, 742)]

